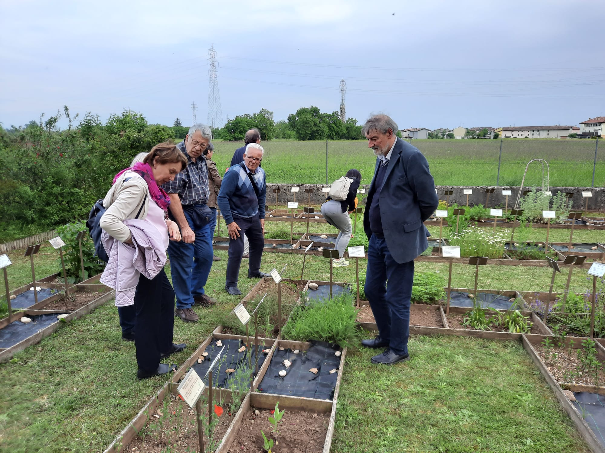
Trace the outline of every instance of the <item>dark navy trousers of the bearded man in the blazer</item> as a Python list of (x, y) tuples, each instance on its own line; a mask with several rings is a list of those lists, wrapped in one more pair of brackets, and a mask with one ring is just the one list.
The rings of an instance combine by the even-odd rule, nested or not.
[(388, 251), (387, 242), (373, 234), (368, 246), (365, 295), (380, 338), (397, 355), (408, 353), (413, 281), (414, 261), (397, 263)]

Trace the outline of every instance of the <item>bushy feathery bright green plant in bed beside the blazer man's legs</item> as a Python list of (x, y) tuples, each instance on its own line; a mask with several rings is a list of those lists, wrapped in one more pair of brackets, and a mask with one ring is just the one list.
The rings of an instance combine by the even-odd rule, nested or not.
[(296, 307), (281, 335), (294, 341), (315, 339), (351, 346), (357, 339), (356, 316), (353, 293), (342, 292), (331, 300), (312, 300), (309, 306)]

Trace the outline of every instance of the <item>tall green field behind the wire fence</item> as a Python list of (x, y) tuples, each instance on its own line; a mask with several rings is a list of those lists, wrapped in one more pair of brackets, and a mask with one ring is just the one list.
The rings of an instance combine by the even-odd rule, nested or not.
[[(213, 160), (224, 172), (233, 152), (242, 142), (215, 141)], [(325, 184), (324, 141), (272, 140), (261, 143), (266, 151), (263, 168), (267, 181), (284, 184)], [(495, 185), (500, 140), (413, 140), (427, 156), (436, 185)], [(356, 168), (370, 184), (376, 157), (367, 141), (327, 143), (328, 177), (331, 183)], [(511, 140), (502, 141), (499, 185), (520, 185), (531, 159), (545, 159), (550, 167), (551, 187), (590, 187), (595, 140)], [(546, 178), (546, 172), (545, 172)], [(537, 162), (528, 170), (525, 185), (542, 184), (542, 167)], [(597, 153), (595, 187), (605, 185), (605, 144)]]

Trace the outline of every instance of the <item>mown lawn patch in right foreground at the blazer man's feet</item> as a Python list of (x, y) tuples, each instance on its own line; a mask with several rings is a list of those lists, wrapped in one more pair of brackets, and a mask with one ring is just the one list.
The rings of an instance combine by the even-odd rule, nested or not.
[(590, 449), (517, 342), (412, 336), (385, 370), (347, 353), (332, 451), (583, 453)]

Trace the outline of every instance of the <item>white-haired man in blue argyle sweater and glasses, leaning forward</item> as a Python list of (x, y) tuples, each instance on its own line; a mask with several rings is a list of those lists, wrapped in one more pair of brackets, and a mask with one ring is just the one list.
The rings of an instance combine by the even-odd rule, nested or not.
[(229, 260), (225, 290), (239, 295), (237, 288), (241, 257), (246, 234), (250, 242), (248, 278), (269, 277), (260, 271), (264, 248), (264, 217), (267, 184), (264, 170), (263, 147), (256, 143), (246, 145), (244, 161), (232, 166), (223, 177), (217, 203), (229, 230)]

